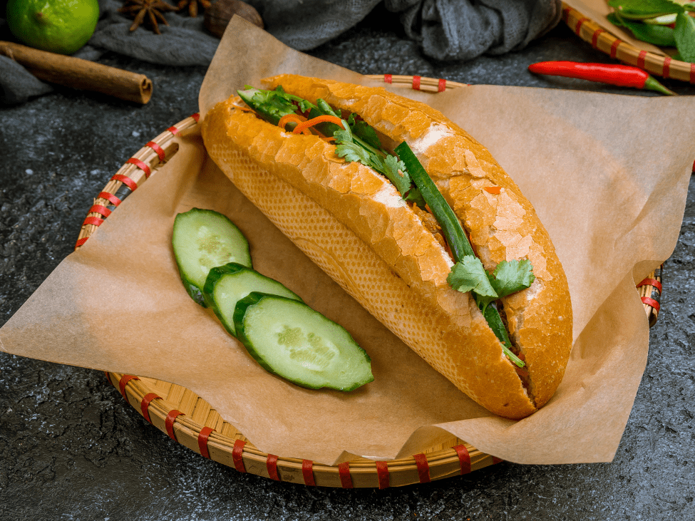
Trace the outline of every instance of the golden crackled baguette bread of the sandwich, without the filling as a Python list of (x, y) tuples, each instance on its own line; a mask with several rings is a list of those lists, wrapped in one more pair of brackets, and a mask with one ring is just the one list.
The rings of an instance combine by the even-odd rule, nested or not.
[[(504, 299), (513, 341), (530, 373), (524, 388), (470, 294), (446, 283), (452, 261), (396, 188), (345, 163), (316, 136), (292, 135), (235, 108), (207, 114), (208, 153), (285, 234), (377, 319), (461, 391), (494, 413), (523, 418), (542, 406), (565, 371), (572, 339), (567, 281), (550, 239), (518, 187), (485, 148), (441, 113), (381, 88), (279, 76), (274, 88), (356, 112), (406, 140), (471, 233), (492, 269), (528, 258), (532, 286)], [(499, 195), (483, 190), (499, 186)]]

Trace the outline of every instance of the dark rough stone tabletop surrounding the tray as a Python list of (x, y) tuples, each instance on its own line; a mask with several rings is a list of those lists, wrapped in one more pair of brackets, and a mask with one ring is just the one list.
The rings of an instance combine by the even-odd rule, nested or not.
[[(652, 96), (528, 73), (529, 63), (546, 59), (609, 61), (565, 26), (519, 53), (433, 63), (388, 16), (378, 8), (312, 54), (361, 73)], [(197, 110), (205, 68), (115, 55), (102, 61), (152, 78), (152, 101), (139, 107), (58, 88), (0, 111), (0, 325), (71, 252), (108, 177), (150, 138)], [(683, 83), (664, 83), (695, 93)], [(693, 519), (694, 267), (691, 182), (647, 371), (614, 461), (599, 465), (501, 463), (383, 491), (275, 483), (174, 443), (99, 371), (0, 353), (0, 520)]]

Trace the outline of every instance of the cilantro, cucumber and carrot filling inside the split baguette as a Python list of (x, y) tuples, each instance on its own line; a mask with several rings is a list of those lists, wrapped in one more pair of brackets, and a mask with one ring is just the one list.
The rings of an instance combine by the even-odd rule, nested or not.
[(386, 143), (388, 138), (380, 137), (359, 115), (343, 113), (324, 100), (319, 99), (314, 104), (285, 93), (282, 87), (274, 91), (261, 91), (247, 86), (238, 93), (257, 117), (278, 125), (288, 133), (316, 135), (334, 144), (335, 153), (340, 158), (371, 167), (391, 181), (401, 196), (400, 202), (392, 202), (396, 194), (391, 190), (376, 197), (386, 198), (388, 205), (408, 205), (423, 227), (448, 252), (452, 259), (448, 284), (459, 292), (472, 294), (478, 309), (500, 341), (503, 354), (515, 364), (522, 383), (527, 387), (525, 363), (515, 342), (510, 340), (499, 299), (531, 286), (535, 280), (531, 263), (527, 259), (503, 261), (487, 272), (475, 255), (460, 220), (416, 156), (416, 153), (422, 153), (451, 132), (445, 126), (436, 124), (411, 145), (403, 142), (393, 150), (387, 150), (382, 143)]

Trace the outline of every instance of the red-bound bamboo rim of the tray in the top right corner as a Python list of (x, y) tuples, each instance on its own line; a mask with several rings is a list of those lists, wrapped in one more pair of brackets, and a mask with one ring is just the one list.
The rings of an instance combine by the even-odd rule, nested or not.
[(562, 20), (582, 40), (591, 43), (593, 48), (608, 54), (611, 58), (617, 58), (657, 76), (695, 83), (695, 63), (687, 63), (674, 60), (671, 56), (661, 56), (649, 51), (642, 51), (613, 36), (565, 2), (562, 2)]

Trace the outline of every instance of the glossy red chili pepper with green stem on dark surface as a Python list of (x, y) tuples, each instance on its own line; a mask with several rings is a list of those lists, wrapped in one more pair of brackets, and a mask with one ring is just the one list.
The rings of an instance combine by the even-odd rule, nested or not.
[(581, 80), (599, 81), (619, 87), (646, 88), (661, 94), (676, 96), (649, 73), (641, 68), (615, 63), (581, 63), (577, 61), (541, 61), (532, 63), (528, 70), (537, 74), (579, 78)]

